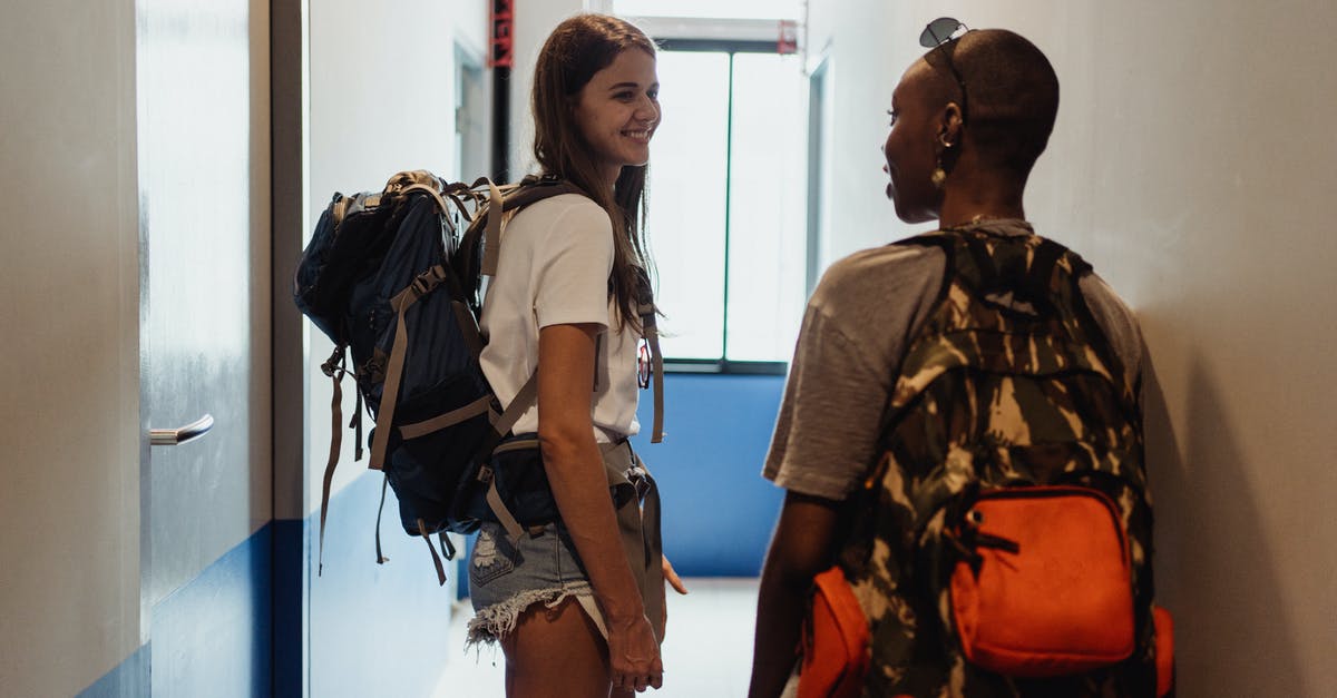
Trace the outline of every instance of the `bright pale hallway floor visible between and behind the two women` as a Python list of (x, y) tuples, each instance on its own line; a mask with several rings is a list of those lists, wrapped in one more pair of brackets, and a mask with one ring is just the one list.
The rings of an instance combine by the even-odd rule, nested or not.
[[(664, 687), (647, 698), (742, 698), (751, 667), (757, 612), (755, 579), (687, 579), (690, 594), (668, 592), (668, 631), (663, 645)], [(464, 638), (468, 602), (451, 624), (452, 645)], [(433, 698), (501, 698), (500, 650), (449, 659)]]

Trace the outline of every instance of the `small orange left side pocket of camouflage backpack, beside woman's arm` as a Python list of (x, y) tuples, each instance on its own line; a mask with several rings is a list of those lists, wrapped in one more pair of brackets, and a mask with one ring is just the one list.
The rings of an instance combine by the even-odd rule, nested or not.
[(798, 698), (856, 697), (864, 690), (868, 671), (868, 620), (840, 566), (817, 575), (813, 582)]

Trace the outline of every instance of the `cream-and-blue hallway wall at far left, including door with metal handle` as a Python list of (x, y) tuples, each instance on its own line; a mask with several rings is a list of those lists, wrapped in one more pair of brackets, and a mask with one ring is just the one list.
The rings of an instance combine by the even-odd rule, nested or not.
[[(0, 203), (0, 313), (11, 340), (0, 369), (5, 695), (185, 694), (191, 679), (223, 674), (215, 690), (269, 686), (269, 361), (257, 346), (266, 344), (267, 314), (249, 294), (270, 290), (246, 271), (269, 266), (267, 21), (251, 12), (262, 5), (7, 7), (0, 181), (23, 194)], [(199, 71), (201, 62), (222, 70)], [(166, 74), (155, 72), (164, 64)], [(195, 78), (189, 87), (211, 86), (203, 96), (217, 100), (217, 122), (180, 116), (209, 87), (172, 91), (164, 82), (172, 70)], [(152, 99), (164, 92), (170, 103)], [(213, 132), (230, 159), (163, 146), (191, 128)], [(226, 210), (191, 209), (185, 193), (213, 194)], [(164, 203), (179, 206), (168, 213)], [(206, 223), (227, 235), (190, 241), (210, 233)], [(199, 269), (197, 253), (214, 266)], [(150, 265), (155, 258), (172, 263)], [(162, 274), (172, 265), (179, 275)], [(231, 286), (214, 286), (209, 271)], [(150, 279), (160, 294), (150, 293)], [(226, 317), (201, 317), (195, 305), (164, 313), (162, 301), (187, 296), (186, 285)], [(206, 324), (223, 334), (194, 333)], [(187, 337), (203, 338), (179, 341)], [(199, 388), (207, 382), (199, 376), (218, 374), (219, 346), (241, 396), (227, 404)], [(265, 366), (259, 376), (253, 360)], [(170, 389), (146, 389), (147, 376)], [(155, 451), (150, 463), (147, 427), (182, 424), (167, 394), (198, 400), (219, 428), (202, 444)], [(190, 419), (199, 415), (190, 409)], [(258, 544), (247, 546), (253, 535)], [(237, 551), (246, 555), (229, 555)], [(193, 594), (210, 612), (176, 622)], [(154, 650), (162, 654), (151, 682)], [(193, 677), (178, 683), (183, 674)]]

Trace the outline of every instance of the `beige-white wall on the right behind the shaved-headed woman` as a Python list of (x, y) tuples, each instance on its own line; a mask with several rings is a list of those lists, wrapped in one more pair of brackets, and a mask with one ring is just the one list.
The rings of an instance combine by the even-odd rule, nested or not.
[(1138, 313), (1151, 353), (1148, 467), (1159, 599), (1178, 619), (1179, 695), (1337, 694), (1337, 5), (814, 0), (833, 40), (829, 258), (890, 225), (885, 110), (929, 20), (1040, 45), (1062, 106), (1027, 198)]

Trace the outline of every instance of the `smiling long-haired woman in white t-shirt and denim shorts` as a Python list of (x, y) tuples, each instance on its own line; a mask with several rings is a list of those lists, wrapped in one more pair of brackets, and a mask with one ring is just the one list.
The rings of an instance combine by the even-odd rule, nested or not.
[(511, 697), (626, 695), (663, 679), (663, 579), (681, 582), (650, 530), (658, 516), (642, 516), (639, 497), (658, 495), (627, 444), (639, 429), (640, 218), (658, 92), (654, 44), (606, 15), (558, 25), (535, 68), (539, 174), (579, 193), (507, 225), (481, 320), (483, 369), (504, 404), (537, 373), (537, 404), (513, 432), (537, 433), (559, 512), (519, 536), (484, 524), (469, 564), (471, 642), (500, 642)]

